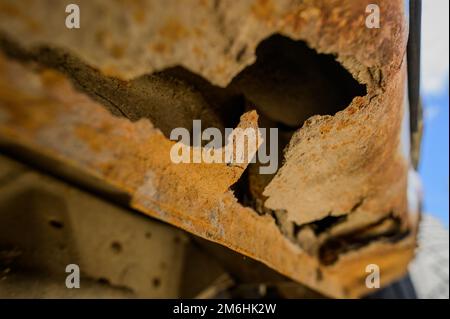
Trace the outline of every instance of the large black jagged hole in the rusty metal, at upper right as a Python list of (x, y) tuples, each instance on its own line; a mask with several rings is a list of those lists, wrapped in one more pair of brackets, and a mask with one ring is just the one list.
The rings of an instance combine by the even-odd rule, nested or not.
[(318, 54), (304, 41), (273, 35), (258, 45), (256, 56), (231, 87), (282, 129), (298, 128), (316, 114), (334, 115), (367, 94), (333, 55)]

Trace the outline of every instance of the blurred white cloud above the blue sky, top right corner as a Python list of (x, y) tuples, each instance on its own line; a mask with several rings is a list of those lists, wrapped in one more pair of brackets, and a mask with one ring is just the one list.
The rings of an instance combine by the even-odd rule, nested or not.
[(422, 1), (421, 86), (429, 94), (439, 93), (447, 84), (449, 2)]

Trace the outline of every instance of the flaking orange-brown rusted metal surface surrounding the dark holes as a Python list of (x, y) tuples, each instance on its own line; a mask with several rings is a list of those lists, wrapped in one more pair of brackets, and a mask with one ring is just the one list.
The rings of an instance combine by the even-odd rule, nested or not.
[[(0, 30), (31, 56), (42, 47), (62, 49), (125, 84), (182, 65), (226, 86), (255, 60), (258, 43), (274, 33), (334, 54), (367, 94), (335, 115), (309, 118), (294, 133), (283, 166), (264, 189), (264, 208), (282, 212), (299, 227), (347, 215), (345, 223), (329, 230), (339, 240), (355, 229), (377, 233), (377, 223), (389, 217), (399, 223), (398, 236), (359, 231), (363, 244), (324, 263), (285, 236), (272, 216), (237, 202), (230, 187), (245, 167), (174, 164), (169, 158), (173, 142), (149, 120), (113, 116), (74, 89), (67, 74), (6, 56), (0, 61), (3, 143), (64, 161), (129, 194), (132, 207), (329, 296), (367, 293), (367, 264), (380, 266), (382, 285), (405, 273), (416, 220), (408, 214), (408, 159), (400, 152), (403, 1), (379, 1), (379, 29), (366, 28), (370, 1), (362, 0), (132, 3), (80, 1), (82, 27), (68, 30), (63, 2), (2, 0)], [(255, 113), (241, 119), (244, 127), (256, 127), (256, 122)]]

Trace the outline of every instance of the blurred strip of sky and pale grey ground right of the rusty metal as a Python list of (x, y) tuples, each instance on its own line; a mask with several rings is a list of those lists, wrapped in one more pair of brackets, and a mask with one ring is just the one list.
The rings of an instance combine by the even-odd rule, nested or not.
[(410, 275), (419, 298), (449, 298), (449, 1), (422, 1), (419, 162), (424, 199)]

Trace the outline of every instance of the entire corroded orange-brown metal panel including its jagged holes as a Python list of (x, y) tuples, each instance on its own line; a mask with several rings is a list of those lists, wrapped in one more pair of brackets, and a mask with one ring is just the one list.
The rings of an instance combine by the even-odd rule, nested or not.
[[(132, 6), (86, 1), (76, 32), (56, 27), (63, 10), (0, 3), (5, 149), (64, 163), (72, 175), (125, 194), (131, 207), (328, 296), (367, 293), (370, 263), (382, 269), (382, 285), (406, 271), (418, 212), (408, 207), (409, 155), (400, 139), (402, 1), (382, 1), (380, 29), (363, 26), (369, 2), (362, 0), (143, 1), (154, 9), (148, 17)], [(188, 15), (188, 7), (198, 10)], [(34, 20), (22, 14), (28, 8)], [(277, 43), (301, 53), (303, 64), (274, 50)], [(280, 54), (298, 67), (271, 64)], [(297, 96), (292, 72), (305, 69), (312, 80)], [(287, 71), (277, 78), (267, 70)], [(334, 98), (319, 99), (327, 94)], [(228, 106), (242, 95), (231, 121), (236, 107)], [(284, 96), (293, 98), (279, 105)], [(283, 113), (296, 118), (294, 126)], [(265, 179), (247, 164), (173, 163), (171, 129), (199, 118), (220, 128), (288, 126), (281, 168)], [(250, 201), (236, 185), (250, 189)]]

